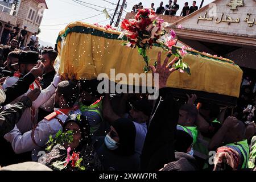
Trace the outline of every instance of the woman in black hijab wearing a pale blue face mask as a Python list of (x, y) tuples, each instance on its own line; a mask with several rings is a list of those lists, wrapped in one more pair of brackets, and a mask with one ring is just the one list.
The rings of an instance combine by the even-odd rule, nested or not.
[[(97, 154), (105, 170), (138, 170), (139, 155), (135, 153), (135, 125), (130, 119), (121, 118), (110, 126), (106, 137), (97, 138)], [(100, 144), (98, 144), (100, 143)]]

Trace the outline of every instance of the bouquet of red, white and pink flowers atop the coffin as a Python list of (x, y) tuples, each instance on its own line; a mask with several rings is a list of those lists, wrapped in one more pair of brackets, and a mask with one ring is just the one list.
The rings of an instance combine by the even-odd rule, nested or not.
[[(148, 56), (146, 55), (146, 50), (152, 48), (154, 45), (162, 47), (165, 51), (171, 51), (172, 46), (177, 42), (175, 38), (176, 34), (174, 31), (170, 31), (170, 34), (166, 34), (164, 26), (167, 22), (155, 16), (155, 12), (150, 9), (139, 10), (135, 15), (135, 19), (124, 19), (121, 24), (123, 29), (122, 34), (119, 38), (123, 36), (127, 37), (127, 42), (123, 43), (123, 46), (136, 48), (138, 47), (138, 52), (143, 56), (146, 63), (144, 67), (144, 72), (148, 72), (150, 68), (148, 67)], [(180, 71), (187, 72), (190, 75), (189, 66), (183, 63), (182, 57), (185, 56), (185, 50), (182, 52), (177, 51), (174, 55), (179, 57), (179, 60), (175, 63), (174, 67)]]

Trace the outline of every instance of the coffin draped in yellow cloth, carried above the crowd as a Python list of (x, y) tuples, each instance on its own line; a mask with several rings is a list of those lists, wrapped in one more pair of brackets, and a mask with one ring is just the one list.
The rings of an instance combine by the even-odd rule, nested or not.
[[(143, 73), (142, 56), (137, 49), (121, 46), (123, 40), (118, 39), (119, 34), (121, 32), (82, 22), (68, 24), (57, 39), (59, 73), (75, 75), (77, 80), (97, 78), (99, 73), (110, 77), (111, 68), (115, 69), (115, 74)], [(151, 65), (158, 51), (163, 50), (155, 46), (147, 51)], [(239, 97), (243, 72), (233, 61), (197, 51), (188, 51), (184, 61), (191, 68), (191, 76), (175, 72), (167, 82), (168, 87)]]

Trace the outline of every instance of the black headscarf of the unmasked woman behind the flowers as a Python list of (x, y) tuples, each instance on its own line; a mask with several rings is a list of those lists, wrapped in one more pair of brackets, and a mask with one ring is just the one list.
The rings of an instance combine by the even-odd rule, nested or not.
[(76, 147), (76, 151), (80, 151), (82, 147), (84, 147), (86, 144), (91, 143), (91, 136), (90, 136), (90, 126), (87, 119), (83, 115), (80, 115), (80, 120), (79, 120), (77, 116), (78, 114), (69, 115), (64, 123), (63, 130), (69, 122), (75, 122), (80, 127), (81, 141), (79, 143), (79, 146)]

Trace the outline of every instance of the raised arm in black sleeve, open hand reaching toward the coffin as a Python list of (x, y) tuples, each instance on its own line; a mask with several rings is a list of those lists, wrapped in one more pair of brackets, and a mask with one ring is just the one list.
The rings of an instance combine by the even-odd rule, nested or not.
[(158, 64), (151, 66), (153, 73), (159, 74), (159, 97), (148, 124), (148, 132), (141, 155), (141, 169), (155, 171), (164, 167), (164, 164), (175, 160), (174, 142), (176, 135), (179, 110), (170, 88), (166, 88), (168, 77), (176, 71), (172, 65), (177, 61), (175, 58), (167, 64), (166, 57), (161, 65), (161, 52), (158, 53)]

